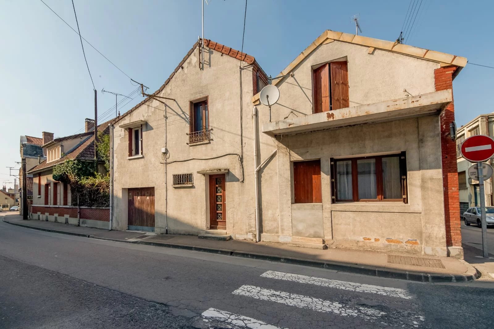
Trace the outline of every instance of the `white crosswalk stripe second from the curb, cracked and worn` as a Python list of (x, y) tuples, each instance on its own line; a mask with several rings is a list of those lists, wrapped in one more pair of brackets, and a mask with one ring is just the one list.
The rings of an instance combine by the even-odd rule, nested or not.
[(244, 285), (232, 293), (318, 312), (335, 313), (341, 316), (351, 315), (364, 319), (377, 319), (386, 314), (367, 307), (347, 307), (329, 300), (248, 285)]

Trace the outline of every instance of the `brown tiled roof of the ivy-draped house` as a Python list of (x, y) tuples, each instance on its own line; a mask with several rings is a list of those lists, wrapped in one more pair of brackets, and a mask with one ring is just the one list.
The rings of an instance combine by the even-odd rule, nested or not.
[[(108, 133), (109, 127), (108, 124), (110, 124), (110, 121), (107, 121), (105, 123), (98, 124), (98, 131), (103, 132), (103, 133)], [(66, 137), (60, 137), (56, 138), (57, 141), (64, 141), (64, 140), (69, 140), (72, 138), (78, 138), (81, 136), (85, 136), (85, 138), (76, 146), (74, 146), (71, 150), (69, 150), (67, 153), (64, 154), (63, 157), (60, 159), (57, 159), (55, 161), (47, 163), (46, 160), (38, 164), (37, 166), (33, 167), (31, 170), (28, 171), (28, 173), (34, 173), (41, 171), (43, 169), (48, 169), (56, 164), (62, 163), (65, 160), (68, 159), (79, 159), (79, 160), (86, 160), (86, 161), (92, 161), (94, 160), (94, 132), (83, 132), (82, 134), (76, 134), (76, 135), (71, 135), (71, 136), (66, 136)]]

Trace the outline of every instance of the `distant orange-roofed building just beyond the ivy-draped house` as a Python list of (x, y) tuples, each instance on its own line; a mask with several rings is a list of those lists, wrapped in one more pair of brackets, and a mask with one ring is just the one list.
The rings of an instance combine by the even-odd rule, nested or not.
[[(26, 172), (31, 170), (34, 166), (41, 163), (41, 161), (45, 160), (46, 157), (43, 154), (43, 148), (41, 145), (43, 144), (43, 139), (39, 137), (32, 136), (21, 136), (20, 137), (20, 155), (21, 155), (21, 163), (22, 160), (26, 160)], [(20, 186), (20, 197), (19, 197), (19, 205), (21, 206), (21, 214), (24, 209), (22, 209), (24, 196), (22, 194), (22, 187), (26, 184), (27, 191), (27, 200), (28, 200), (28, 208), (33, 202), (33, 175), (26, 174), (26, 179), (24, 179), (22, 174), (22, 166), (19, 169), (19, 186)]]

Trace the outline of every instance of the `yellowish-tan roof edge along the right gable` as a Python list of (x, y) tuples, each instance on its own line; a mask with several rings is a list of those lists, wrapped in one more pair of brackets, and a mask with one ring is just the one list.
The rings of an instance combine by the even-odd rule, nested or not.
[[(414, 47), (408, 44), (398, 43), (397, 41), (385, 41), (380, 39), (374, 39), (369, 37), (358, 36), (350, 33), (343, 33), (337, 31), (326, 30), (321, 34), (314, 42), (309, 44), (307, 48), (305, 48), (300, 55), (298, 55), (285, 70), (281, 71), (277, 76), (288, 75), (300, 62), (302, 62), (309, 54), (311, 54), (319, 45), (326, 44), (332, 41), (342, 41), (348, 42), (358, 45), (363, 45), (369, 47), (370, 51), (373, 49), (381, 49), (386, 51), (392, 51), (396, 53), (400, 53), (407, 56), (412, 56), (415, 58), (420, 58), (428, 61), (433, 61), (440, 63), (441, 66), (457, 66), (458, 69), (453, 73), (454, 77), (459, 73), (461, 68), (466, 66), (467, 59), (465, 57), (455, 56), (451, 54), (447, 54), (444, 52)], [(273, 78), (273, 84), (277, 85), (283, 79), (275, 79)], [(252, 97), (252, 102), (255, 103), (259, 99), (259, 93)]]

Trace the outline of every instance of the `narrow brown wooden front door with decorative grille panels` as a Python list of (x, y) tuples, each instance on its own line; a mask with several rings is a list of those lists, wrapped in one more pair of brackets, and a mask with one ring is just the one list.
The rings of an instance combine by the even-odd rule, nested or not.
[(209, 176), (210, 229), (226, 230), (225, 174)]

